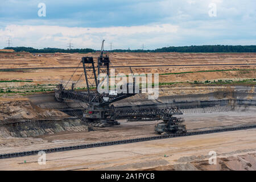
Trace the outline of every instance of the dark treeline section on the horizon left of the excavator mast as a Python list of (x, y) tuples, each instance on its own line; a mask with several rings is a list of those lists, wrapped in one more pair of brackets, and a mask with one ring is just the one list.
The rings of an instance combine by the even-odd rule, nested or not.
[(5, 49), (14, 49), (16, 52), (31, 52), (31, 53), (55, 53), (55, 52), (64, 52), (64, 53), (88, 53), (88, 52), (94, 52), (93, 49), (59, 49), (59, 48), (43, 48), (43, 49), (35, 49), (32, 47), (7, 47)]

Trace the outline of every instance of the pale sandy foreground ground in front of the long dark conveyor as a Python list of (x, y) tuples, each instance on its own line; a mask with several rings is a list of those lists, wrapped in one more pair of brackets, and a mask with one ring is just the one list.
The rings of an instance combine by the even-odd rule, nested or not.
[[(225, 161), (230, 169), (255, 169), (256, 130), (232, 131), (192, 137), (154, 140), (117, 146), (88, 148), (47, 154), (46, 165), (39, 165), (39, 156), (1, 159), (1, 170), (137, 170), (137, 169), (205, 169), (209, 152)], [(248, 155), (249, 154), (249, 155)], [(230, 160), (237, 158), (238, 160)], [(240, 156), (240, 158), (236, 157)], [(226, 159), (225, 159), (226, 158)], [(245, 159), (243, 159), (245, 158)], [(219, 169), (217, 165), (208, 169)], [(26, 163), (24, 163), (26, 161)], [(203, 164), (199, 164), (204, 161)], [(231, 162), (230, 162), (231, 161)], [(229, 163), (228, 163), (229, 162)], [(253, 163), (254, 162), (254, 163)], [(247, 164), (250, 163), (250, 164)], [(172, 168), (170, 168), (170, 165)], [(204, 167), (204, 168), (203, 168)], [(222, 165), (223, 167), (223, 165)]]

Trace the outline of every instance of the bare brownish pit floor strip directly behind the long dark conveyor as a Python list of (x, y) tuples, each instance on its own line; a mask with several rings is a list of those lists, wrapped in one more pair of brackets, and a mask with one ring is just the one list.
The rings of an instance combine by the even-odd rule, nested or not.
[[(187, 130), (208, 130), (213, 127), (238, 126), (255, 123), (256, 113), (226, 112), (207, 114), (184, 114)], [(241, 122), (242, 121), (242, 122)], [(36, 138), (0, 138), (0, 153), (14, 151), (41, 150), (44, 148), (73, 146), (113, 140), (156, 136), (154, 126), (162, 121), (126, 122), (108, 128), (94, 128), (95, 131), (74, 132), (66, 131), (52, 135), (40, 135)], [(25, 142), (24, 142), (25, 141)], [(31, 143), (32, 142), (32, 143)]]

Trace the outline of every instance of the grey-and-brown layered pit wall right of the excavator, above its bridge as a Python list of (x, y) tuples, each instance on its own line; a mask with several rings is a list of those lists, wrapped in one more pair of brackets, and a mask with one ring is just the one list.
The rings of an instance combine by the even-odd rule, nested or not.
[(177, 106), (184, 114), (220, 113), (226, 111), (256, 111), (255, 86), (234, 86), (227, 89), (204, 94), (184, 94), (159, 97), (158, 100), (146, 100), (146, 97), (131, 97), (115, 102), (115, 107), (168, 108)]

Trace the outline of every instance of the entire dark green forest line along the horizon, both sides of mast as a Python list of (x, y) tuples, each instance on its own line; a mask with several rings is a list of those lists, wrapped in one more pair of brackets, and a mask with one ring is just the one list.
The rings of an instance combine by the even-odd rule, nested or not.
[[(32, 47), (6, 47), (5, 49), (14, 49), (16, 52), (27, 51), (31, 53), (88, 53), (96, 52), (98, 50), (86, 49), (59, 49), (59, 48), (43, 48), (35, 49)], [(256, 52), (256, 46), (182, 46), (182, 47), (163, 47), (155, 50), (142, 50), (142, 49), (114, 49), (109, 52)]]

